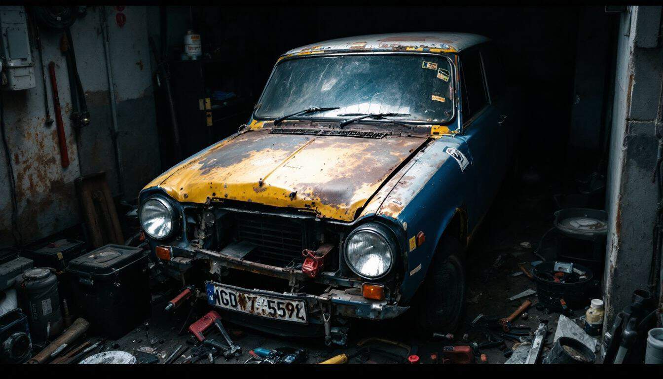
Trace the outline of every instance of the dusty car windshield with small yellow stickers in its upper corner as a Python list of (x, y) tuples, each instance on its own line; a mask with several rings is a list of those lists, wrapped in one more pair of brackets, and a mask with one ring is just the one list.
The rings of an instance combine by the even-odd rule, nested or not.
[(360, 122), (426, 121), (453, 117), (452, 70), (442, 56), (371, 54), (284, 60), (276, 66), (258, 118), (276, 118), (308, 108), (334, 107), (294, 119), (351, 119), (363, 114), (409, 114)]

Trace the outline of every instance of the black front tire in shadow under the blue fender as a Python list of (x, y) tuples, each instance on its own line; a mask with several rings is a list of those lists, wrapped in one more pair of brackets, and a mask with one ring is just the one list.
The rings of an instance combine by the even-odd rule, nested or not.
[(424, 336), (453, 333), (465, 317), (467, 285), (462, 253), (463, 246), (455, 238), (443, 237), (438, 244), (414, 307), (418, 332)]

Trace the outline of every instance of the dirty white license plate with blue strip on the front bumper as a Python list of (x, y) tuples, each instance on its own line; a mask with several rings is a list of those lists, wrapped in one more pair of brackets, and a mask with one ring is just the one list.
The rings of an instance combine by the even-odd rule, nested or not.
[(206, 283), (206, 287), (208, 303), (215, 307), (269, 319), (308, 323), (306, 302), (303, 300), (261, 295), (210, 282)]

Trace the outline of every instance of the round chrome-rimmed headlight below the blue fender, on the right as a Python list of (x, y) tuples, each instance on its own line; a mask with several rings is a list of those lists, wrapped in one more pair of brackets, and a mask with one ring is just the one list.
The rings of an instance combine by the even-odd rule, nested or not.
[(357, 275), (377, 279), (394, 264), (396, 244), (385, 226), (369, 222), (353, 230), (345, 242), (345, 262)]

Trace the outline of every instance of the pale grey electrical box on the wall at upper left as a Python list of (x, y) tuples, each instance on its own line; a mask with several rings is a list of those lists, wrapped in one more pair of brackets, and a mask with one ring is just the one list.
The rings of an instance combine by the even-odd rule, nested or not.
[(3, 90), (34, 88), (34, 64), (25, 7), (0, 7), (0, 66)]

